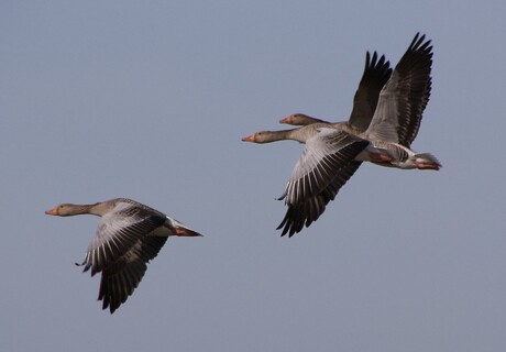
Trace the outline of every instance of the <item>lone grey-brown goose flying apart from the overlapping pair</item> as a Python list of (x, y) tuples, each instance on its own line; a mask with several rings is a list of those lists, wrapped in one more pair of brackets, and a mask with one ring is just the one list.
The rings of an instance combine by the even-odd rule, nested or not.
[(101, 272), (98, 300), (113, 314), (138, 287), (146, 264), (153, 260), (168, 237), (200, 237), (179, 221), (128, 198), (114, 198), (94, 205), (63, 204), (45, 211), (50, 216), (101, 217), (91, 240), (84, 271), (91, 276)]

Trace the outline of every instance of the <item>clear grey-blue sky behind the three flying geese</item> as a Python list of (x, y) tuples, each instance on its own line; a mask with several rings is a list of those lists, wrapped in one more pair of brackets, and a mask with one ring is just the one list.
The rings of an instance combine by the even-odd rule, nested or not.
[[(504, 351), (506, 2), (0, 3), (1, 351)], [(288, 239), (294, 112), (345, 120), (366, 51), (433, 43), (413, 144), (440, 172), (363, 165)], [(129, 197), (170, 239), (125, 305), (74, 265)]]

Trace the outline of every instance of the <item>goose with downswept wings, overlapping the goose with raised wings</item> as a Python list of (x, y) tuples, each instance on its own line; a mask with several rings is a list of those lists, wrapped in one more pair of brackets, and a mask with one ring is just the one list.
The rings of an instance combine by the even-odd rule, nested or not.
[(306, 127), (262, 131), (242, 139), (244, 142), (271, 143), (293, 140), (305, 144), (302, 155), (279, 200), (288, 207), (285, 218), (277, 227), (282, 237), (293, 237), (309, 227), (333, 200), (339, 189), (353, 175), (360, 164), (366, 162), (388, 163), (387, 151), (374, 147), (371, 142), (326, 123)]

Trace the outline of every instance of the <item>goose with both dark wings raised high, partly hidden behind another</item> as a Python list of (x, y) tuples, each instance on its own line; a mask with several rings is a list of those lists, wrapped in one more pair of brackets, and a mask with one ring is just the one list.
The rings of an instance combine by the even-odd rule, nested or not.
[[(288, 116), (279, 122), (292, 125), (326, 123), (338, 127), (371, 141), (376, 147), (388, 150), (394, 155), (393, 161), (380, 162), (378, 165), (402, 169), (438, 170), (441, 163), (436, 156), (430, 153), (417, 153), (410, 148), (430, 97), (431, 64), (430, 41), (425, 41), (425, 35), (420, 36), (417, 33), (393, 73), (383, 65), (380, 66), (383, 68), (380, 70), (383, 75), (372, 76), (369, 73), (371, 64), (367, 55), (364, 75), (348, 122), (330, 123), (302, 113)], [(369, 90), (366, 87), (370, 87)], [(377, 89), (378, 87), (381, 89)], [(369, 100), (358, 97), (367, 97)]]

